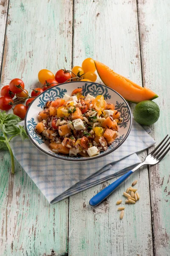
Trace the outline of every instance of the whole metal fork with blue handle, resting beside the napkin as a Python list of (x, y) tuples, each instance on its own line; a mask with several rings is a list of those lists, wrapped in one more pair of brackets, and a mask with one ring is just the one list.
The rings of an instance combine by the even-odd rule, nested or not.
[[(135, 168), (130, 170), (129, 172), (125, 173), (122, 177), (111, 183), (109, 186), (107, 186), (105, 189), (97, 193), (91, 200), (89, 201), (89, 204), (92, 206), (96, 206), (100, 204), (105, 198), (107, 198), (111, 193), (118, 187), (120, 184), (122, 184), (123, 181), (125, 181), (133, 172), (135, 172), (137, 169), (139, 169), (143, 165), (155, 165), (156, 163), (159, 163), (164, 156), (167, 154), (167, 152), (170, 150), (170, 142), (167, 138), (167, 136), (164, 137), (164, 139), (157, 145), (157, 147), (145, 158), (145, 160), (142, 163), (139, 163)], [(167, 139), (167, 140), (166, 140)], [(166, 141), (165, 141), (166, 140)], [(164, 142), (165, 141), (165, 142)], [(164, 143), (164, 144), (163, 144)], [(162, 145), (163, 144), (163, 145)]]

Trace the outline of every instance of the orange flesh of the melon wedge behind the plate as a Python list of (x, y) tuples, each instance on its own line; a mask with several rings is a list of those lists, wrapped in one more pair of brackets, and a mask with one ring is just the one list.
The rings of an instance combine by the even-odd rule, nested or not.
[(158, 97), (156, 93), (147, 87), (141, 87), (124, 76), (115, 73), (105, 64), (94, 61), (97, 73), (105, 85), (116, 90), (127, 101), (139, 103), (143, 100), (153, 100)]

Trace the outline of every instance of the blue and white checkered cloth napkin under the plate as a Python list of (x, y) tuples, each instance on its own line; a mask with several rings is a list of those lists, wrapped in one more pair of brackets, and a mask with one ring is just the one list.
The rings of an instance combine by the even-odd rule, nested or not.
[(88, 189), (112, 177), (121, 175), (140, 163), (136, 152), (155, 142), (142, 126), (133, 120), (132, 129), (125, 141), (113, 153), (87, 162), (56, 160), (39, 151), (29, 140), (19, 137), (11, 141), (14, 156), (45, 195), (54, 204), (70, 195)]

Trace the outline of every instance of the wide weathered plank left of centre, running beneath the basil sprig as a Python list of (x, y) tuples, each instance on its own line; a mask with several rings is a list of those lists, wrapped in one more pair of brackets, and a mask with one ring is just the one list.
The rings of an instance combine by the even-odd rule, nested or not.
[[(54, 73), (72, 61), (72, 1), (11, 0), (1, 82), (37, 85), (41, 68)], [(68, 199), (49, 205), (16, 163), (10, 174), (8, 152), (0, 153), (0, 255), (51, 255), (68, 250)], [(58, 254), (57, 254), (58, 255)]]

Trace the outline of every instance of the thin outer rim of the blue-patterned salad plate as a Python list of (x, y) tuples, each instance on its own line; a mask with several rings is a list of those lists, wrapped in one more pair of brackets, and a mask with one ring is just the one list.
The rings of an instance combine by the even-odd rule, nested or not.
[[(88, 84), (91, 84), (91, 82), (88, 82), (88, 81), (71, 81), (71, 82), (69, 82), (69, 83), (68, 83), (68, 82), (62, 83), (62, 84), (56, 85), (56, 86), (54, 86), (54, 87), (50, 87), (50, 88), (48, 88), (47, 90), (43, 91), (42, 93), (40, 93), (40, 94), (36, 97), (36, 99), (38, 99), (40, 96), (42, 96), (43, 93), (46, 93), (48, 90), (51, 90), (51, 88), (59, 87), (60, 85), (64, 85), (64, 84), (67, 84), (67, 85), (68, 85), (68, 84), (70, 84), (70, 83), (83, 83), (83, 84), (88, 83)], [(127, 101), (126, 101), (118, 92), (116, 92), (116, 91), (113, 90), (112, 88), (110, 88), (110, 87), (108, 87), (108, 86), (106, 86), (106, 85), (104, 85), (104, 84), (99, 84), (99, 83), (95, 83), (95, 82), (93, 82), (93, 84), (97, 84), (97, 85), (106, 87), (107, 89), (109, 88), (109, 89), (112, 90), (114, 93), (116, 93), (117, 95), (119, 95), (119, 96), (124, 100), (124, 102), (127, 104)], [(31, 106), (33, 103), (34, 103), (34, 101), (32, 101), (31, 104), (29, 105), (28, 111), (29, 111), (29, 109), (30, 109), (30, 106)], [(40, 146), (38, 146), (36, 143), (34, 143), (34, 140), (32, 140), (31, 136), (30, 136), (29, 133), (28, 133), (28, 128), (27, 128), (27, 115), (28, 115), (28, 111), (26, 112), (26, 116), (25, 116), (25, 128), (26, 128), (26, 132), (27, 132), (28, 138), (31, 140), (31, 143), (33, 143), (33, 145), (34, 145), (36, 148), (38, 148), (41, 152), (43, 152), (44, 154), (46, 154), (46, 155), (48, 155), (48, 156), (50, 156), (50, 157), (54, 157), (54, 158), (59, 159), (59, 160), (69, 161), (69, 162), (72, 162), (72, 161), (73, 161), (73, 162), (89, 161), (89, 160), (94, 160), (94, 159), (97, 159), (97, 158), (100, 158), (100, 157), (104, 157), (104, 156), (106, 156), (106, 155), (112, 153), (113, 151), (115, 151), (117, 148), (119, 148), (119, 147), (125, 142), (125, 140), (127, 139), (128, 135), (129, 135), (129, 133), (130, 133), (130, 130), (131, 130), (131, 128), (132, 128), (132, 113), (131, 113), (131, 110), (130, 110), (130, 107), (129, 107), (128, 104), (127, 104), (127, 108), (128, 108), (128, 110), (129, 110), (129, 113), (130, 113), (130, 125), (129, 125), (129, 129), (128, 129), (128, 131), (127, 131), (127, 134), (125, 135), (125, 138), (124, 138), (118, 145), (116, 145), (115, 148), (112, 148), (110, 151), (104, 152), (103, 154), (96, 155), (96, 157), (82, 157), (82, 158), (79, 158), (79, 159), (77, 159), (77, 158), (75, 159), (74, 157), (73, 157), (73, 158), (70, 157), (69, 159), (67, 159), (67, 158), (64, 158), (64, 156), (62, 156), (62, 155), (59, 155), (59, 154), (53, 154), (53, 155), (52, 155), (51, 153), (48, 153), (47, 151), (43, 150)]]

